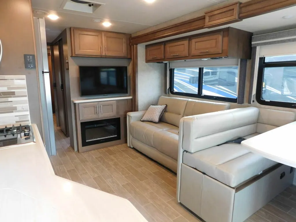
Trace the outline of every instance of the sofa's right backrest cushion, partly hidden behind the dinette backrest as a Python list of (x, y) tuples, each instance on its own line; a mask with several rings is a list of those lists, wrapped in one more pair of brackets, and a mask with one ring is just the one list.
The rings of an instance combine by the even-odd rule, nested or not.
[(229, 110), (230, 104), (207, 102), (201, 100), (189, 99), (185, 108), (184, 116), (193, 116), (209, 112), (218, 112), (221, 110)]

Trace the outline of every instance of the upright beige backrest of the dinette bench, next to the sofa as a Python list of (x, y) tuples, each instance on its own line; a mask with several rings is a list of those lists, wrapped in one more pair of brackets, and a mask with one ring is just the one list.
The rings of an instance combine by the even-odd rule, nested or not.
[(258, 108), (248, 107), (184, 117), (179, 149), (194, 153), (255, 133), (258, 115)]

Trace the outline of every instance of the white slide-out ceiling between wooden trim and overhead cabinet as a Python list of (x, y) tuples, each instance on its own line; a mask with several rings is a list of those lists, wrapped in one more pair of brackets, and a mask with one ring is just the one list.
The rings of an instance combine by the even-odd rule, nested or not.
[[(185, 33), (185, 34), (181, 34), (173, 37), (168, 37), (168, 38), (163, 38), (156, 41), (147, 42), (145, 43), (145, 45), (160, 42), (160, 41), (170, 40), (173, 38), (180, 38), (184, 36), (190, 36), (198, 33), (208, 32), (216, 29), (226, 28), (229, 26), (252, 32), (254, 33), (254, 35), (293, 29), (293, 28), (296, 28), (295, 12), (296, 12), (296, 6), (282, 9), (275, 12), (270, 12), (264, 15), (259, 15), (256, 17), (244, 19), (241, 22), (236, 22), (227, 26), (220, 26), (220, 27), (210, 28), (210, 29), (202, 29), (202, 30), (197, 30), (190, 33)], [(290, 19), (283, 19), (282, 17), (286, 15), (293, 15), (294, 17)]]

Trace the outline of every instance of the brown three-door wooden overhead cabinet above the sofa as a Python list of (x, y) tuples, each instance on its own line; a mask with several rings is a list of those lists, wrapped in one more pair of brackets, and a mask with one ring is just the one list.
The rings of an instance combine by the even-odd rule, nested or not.
[[(172, 39), (146, 46), (146, 62), (164, 62), (187, 59), (230, 57), (251, 59), (253, 33), (236, 28), (223, 28), (193, 36)], [(163, 46), (160, 48), (159, 46)], [(147, 57), (158, 46), (164, 57)]]

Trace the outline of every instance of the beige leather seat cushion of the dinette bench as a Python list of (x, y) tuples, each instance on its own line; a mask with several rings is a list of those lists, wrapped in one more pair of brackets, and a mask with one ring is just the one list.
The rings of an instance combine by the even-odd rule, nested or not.
[[(252, 134), (248, 137), (255, 136)], [(199, 152), (184, 152), (183, 163), (231, 187), (276, 164), (249, 152), (241, 144), (223, 144)]]

